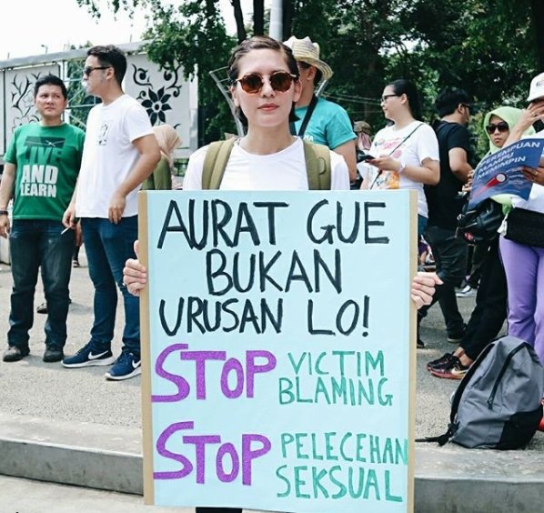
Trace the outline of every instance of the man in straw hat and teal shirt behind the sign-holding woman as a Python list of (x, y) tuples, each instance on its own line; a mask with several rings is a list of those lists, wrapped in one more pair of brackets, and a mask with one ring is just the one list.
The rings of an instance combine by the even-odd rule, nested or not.
[(314, 88), (323, 79), (328, 80), (332, 69), (319, 59), (319, 45), (309, 37), (297, 39), (294, 35), (285, 42), (297, 59), (302, 92), (297, 101), (298, 121), (291, 126), (291, 132), (314, 143), (328, 146), (343, 156), (348, 164), (349, 178), (357, 176), (355, 141), (348, 113), (341, 106), (324, 98), (317, 98)]

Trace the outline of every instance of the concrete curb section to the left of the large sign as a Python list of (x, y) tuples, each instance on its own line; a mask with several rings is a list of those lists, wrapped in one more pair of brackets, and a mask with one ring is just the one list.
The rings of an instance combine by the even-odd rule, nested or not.
[(0, 414), (0, 474), (143, 494), (135, 428)]

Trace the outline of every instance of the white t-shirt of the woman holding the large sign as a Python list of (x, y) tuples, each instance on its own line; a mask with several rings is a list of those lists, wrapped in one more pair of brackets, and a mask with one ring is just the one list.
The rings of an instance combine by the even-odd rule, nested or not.
[[(185, 190), (202, 189), (202, 170), (207, 146), (198, 149), (187, 164)], [(349, 173), (344, 157), (330, 152), (331, 190), (348, 190)], [(306, 161), (302, 140), (271, 155), (247, 153), (235, 144), (228, 158), (221, 190), (308, 190)]]

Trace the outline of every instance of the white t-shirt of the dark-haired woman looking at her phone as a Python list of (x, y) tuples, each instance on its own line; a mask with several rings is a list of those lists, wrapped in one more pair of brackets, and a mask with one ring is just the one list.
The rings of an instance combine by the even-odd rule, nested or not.
[[(414, 132), (417, 126), (418, 129)], [(410, 133), (412, 133), (411, 136)], [(407, 136), (408, 139), (403, 142)], [(440, 159), (435, 131), (421, 121), (413, 121), (400, 130), (395, 129), (395, 126), (382, 128), (374, 137), (368, 153), (372, 156), (390, 155), (400, 161), (403, 166), (421, 166), (421, 162), (426, 158), (437, 162)], [(418, 214), (428, 217), (427, 199), (422, 183), (414, 182), (397, 171), (384, 171), (378, 176), (378, 167), (369, 164), (359, 165), (358, 170), (366, 180), (368, 188), (416, 189), (418, 191)]]

